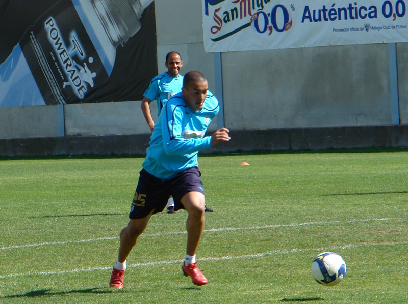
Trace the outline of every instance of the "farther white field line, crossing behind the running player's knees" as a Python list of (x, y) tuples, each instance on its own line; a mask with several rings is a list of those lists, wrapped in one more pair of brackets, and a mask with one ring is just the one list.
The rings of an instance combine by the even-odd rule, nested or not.
[[(301, 227), (301, 226), (310, 226), (310, 225), (331, 225), (331, 224), (340, 224), (340, 223), (367, 223), (367, 222), (382, 222), (382, 221), (396, 221), (403, 220), (402, 218), (382, 218), (382, 219), (366, 219), (366, 220), (351, 220), (351, 221), (331, 221), (331, 222), (309, 222), (309, 223), (299, 223), (299, 224), (279, 224), (279, 225), (265, 225), (265, 226), (253, 226), (253, 227), (236, 227), (236, 228), (217, 228), (217, 229), (208, 229), (204, 230), (205, 232), (225, 232), (225, 231), (239, 231), (239, 230), (260, 230), (260, 229), (273, 229), (273, 228), (284, 228), (284, 227)], [(168, 235), (179, 235), (187, 234), (187, 232), (161, 232), (155, 234), (142, 234), (140, 237), (152, 237), (152, 236), (168, 236)], [(55, 242), (43, 242), (38, 244), (27, 244), (27, 245), (12, 245), (6, 247), (0, 247), (0, 250), (9, 250), (9, 249), (20, 249), (20, 248), (30, 248), (30, 247), (41, 247), (41, 246), (55, 246), (55, 245), (65, 245), (65, 244), (81, 244), (87, 242), (96, 242), (96, 241), (105, 241), (105, 240), (114, 240), (119, 239), (118, 236), (114, 237), (100, 237), (100, 238), (91, 238), (91, 239), (80, 239), (80, 240), (66, 240), (66, 241), (55, 241)]]

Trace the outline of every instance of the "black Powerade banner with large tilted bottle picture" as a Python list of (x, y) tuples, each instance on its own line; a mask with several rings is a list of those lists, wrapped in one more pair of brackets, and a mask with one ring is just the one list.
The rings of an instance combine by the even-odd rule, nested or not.
[(157, 74), (154, 3), (120, 4), (0, 0), (0, 107), (141, 100)]

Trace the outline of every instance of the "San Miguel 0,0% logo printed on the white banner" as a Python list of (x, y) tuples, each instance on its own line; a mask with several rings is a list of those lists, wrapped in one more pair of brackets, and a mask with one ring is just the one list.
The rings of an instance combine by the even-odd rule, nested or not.
[[(205, 15), (213, 17), (212, 41), (221, 41), (247, 27), (260, 34), (272, 35), (292, 27), (291, 11), (272, 0), (205, 0)], [(211, 18), (211, 17), (210, 17)]]

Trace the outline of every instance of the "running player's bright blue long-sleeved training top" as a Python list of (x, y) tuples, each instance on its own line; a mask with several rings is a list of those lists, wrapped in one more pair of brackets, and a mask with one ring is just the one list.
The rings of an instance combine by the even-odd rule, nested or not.
[(198, 151), (211, 147), (211, 136), (204, 135), (218, 112), (218, 100), (210, 91), (197, 112), (187, 106), (182, 92), (171, 97), (151, 134), (143, 168), (157, 178), (168, 179), (196, 166)]

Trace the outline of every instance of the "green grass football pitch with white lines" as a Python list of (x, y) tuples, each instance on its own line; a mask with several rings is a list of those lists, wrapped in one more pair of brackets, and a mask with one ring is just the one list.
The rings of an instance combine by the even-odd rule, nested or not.
[[(182, 274), (182, 210), (152, 217), (120, 291), (107, 286), (143, 158), (3, 158), (0, 302), (408, 302), (407, 152), (201, 156), (209, 283)], [(347, 262), (338, 286), (311, 277), (322, 251)]]

